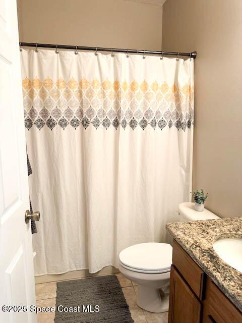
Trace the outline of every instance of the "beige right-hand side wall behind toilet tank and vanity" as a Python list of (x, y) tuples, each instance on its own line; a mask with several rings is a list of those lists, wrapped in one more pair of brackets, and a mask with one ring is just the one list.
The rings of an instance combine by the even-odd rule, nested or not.
[(218, 215), (242, 216), (242, 1), (167, 0), (162, 47), (195, 60), (193, 189)]

